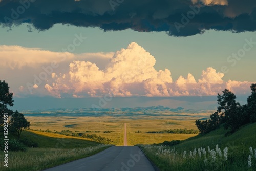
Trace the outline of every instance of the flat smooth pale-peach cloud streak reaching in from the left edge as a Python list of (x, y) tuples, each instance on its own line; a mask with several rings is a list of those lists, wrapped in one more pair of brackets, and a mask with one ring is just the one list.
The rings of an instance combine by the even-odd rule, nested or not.
[(38, 68), (51, 62), (72, 62), (73, 60), (90, 60), (103, 68), (114, 53), (83, 53), (52, 52), (40, 48), (0, 45), (0, 67), (11, 69)]

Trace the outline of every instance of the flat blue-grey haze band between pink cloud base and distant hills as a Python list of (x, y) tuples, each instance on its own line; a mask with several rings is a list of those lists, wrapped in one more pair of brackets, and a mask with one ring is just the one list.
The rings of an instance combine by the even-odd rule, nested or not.
[[(240, 104), (246, 102), (248, 96), (237, 96)], [(154, 107), (152, 107), (154, 106)], [(113, 111), (180, 111), (217, 109), (217, 96), (183, 96), (183, 97), (113, 97), (104, 100), (100, 97), (90, 98), (53, 98), (30, 97), (14, 98), (13, 110), (49, 110), (49, 109), (90, 109), (101, 107), (100, 110)]]

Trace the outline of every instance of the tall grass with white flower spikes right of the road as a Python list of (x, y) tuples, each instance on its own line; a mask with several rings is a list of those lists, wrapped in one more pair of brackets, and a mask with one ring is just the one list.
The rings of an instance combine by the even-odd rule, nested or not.
[[(198, 149), (191, 149), (190, 151), (178, 152), (175, 148), (167, 146), (152, 146), (140, 145), (144, 153), (153, 159), (159, 168), (163, 170), (256, 170), (256, 158), (253, 154), (250, 157), (251, 166), (248, 165), (249, 149), (247, 152), (243, 148), (238, 149), (237, 152), (227, 153), (227, 158), (224, 156), (223, 150), (221, 155), (217, 149), (210, 149), (204, 154), (201, 151), (202, 147)], [(201, 155), (199, 155), (199, 153)]]

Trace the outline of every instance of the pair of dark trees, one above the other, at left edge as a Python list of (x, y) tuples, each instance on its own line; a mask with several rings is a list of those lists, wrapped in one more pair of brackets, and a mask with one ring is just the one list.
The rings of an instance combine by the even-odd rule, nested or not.
[[(11, 132), (13, 135), (17, 136), (19, 139), (20, 134), (26, 128), (29, 128), (30, 122), (28, 122), (22, 113), (19, 113), (17, 110), (13, 112), (8, 109), (9, 106), (13, 106), (13, 93), (9, 92), (8, 83), (0, 80), (0, 132), (4, 132), (5, 128), (8, 128), (8, 132)], [(8, 127), (4, 124), (7, 119), (5, 119), (5, 114), (10, 118), (8, 122)], [(4, 126), (5, 125), (5, 126)], [(6, 129), (7, 130), (7, 129)]]

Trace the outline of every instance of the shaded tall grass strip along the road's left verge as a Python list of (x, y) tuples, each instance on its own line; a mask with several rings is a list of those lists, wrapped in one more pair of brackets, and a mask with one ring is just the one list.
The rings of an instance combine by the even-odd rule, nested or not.
[[(86, 148), (28, 148), (26, 152), (8, 152), (8, 168), (4, 162), (0, 164), (0, 170), (12, 171), (37, 171), (56, 165), (67, 163), (76, 159), (96, 154), (110, 145), (97, 145)], [(4, 156), (1, 152), (0, 156)]]

